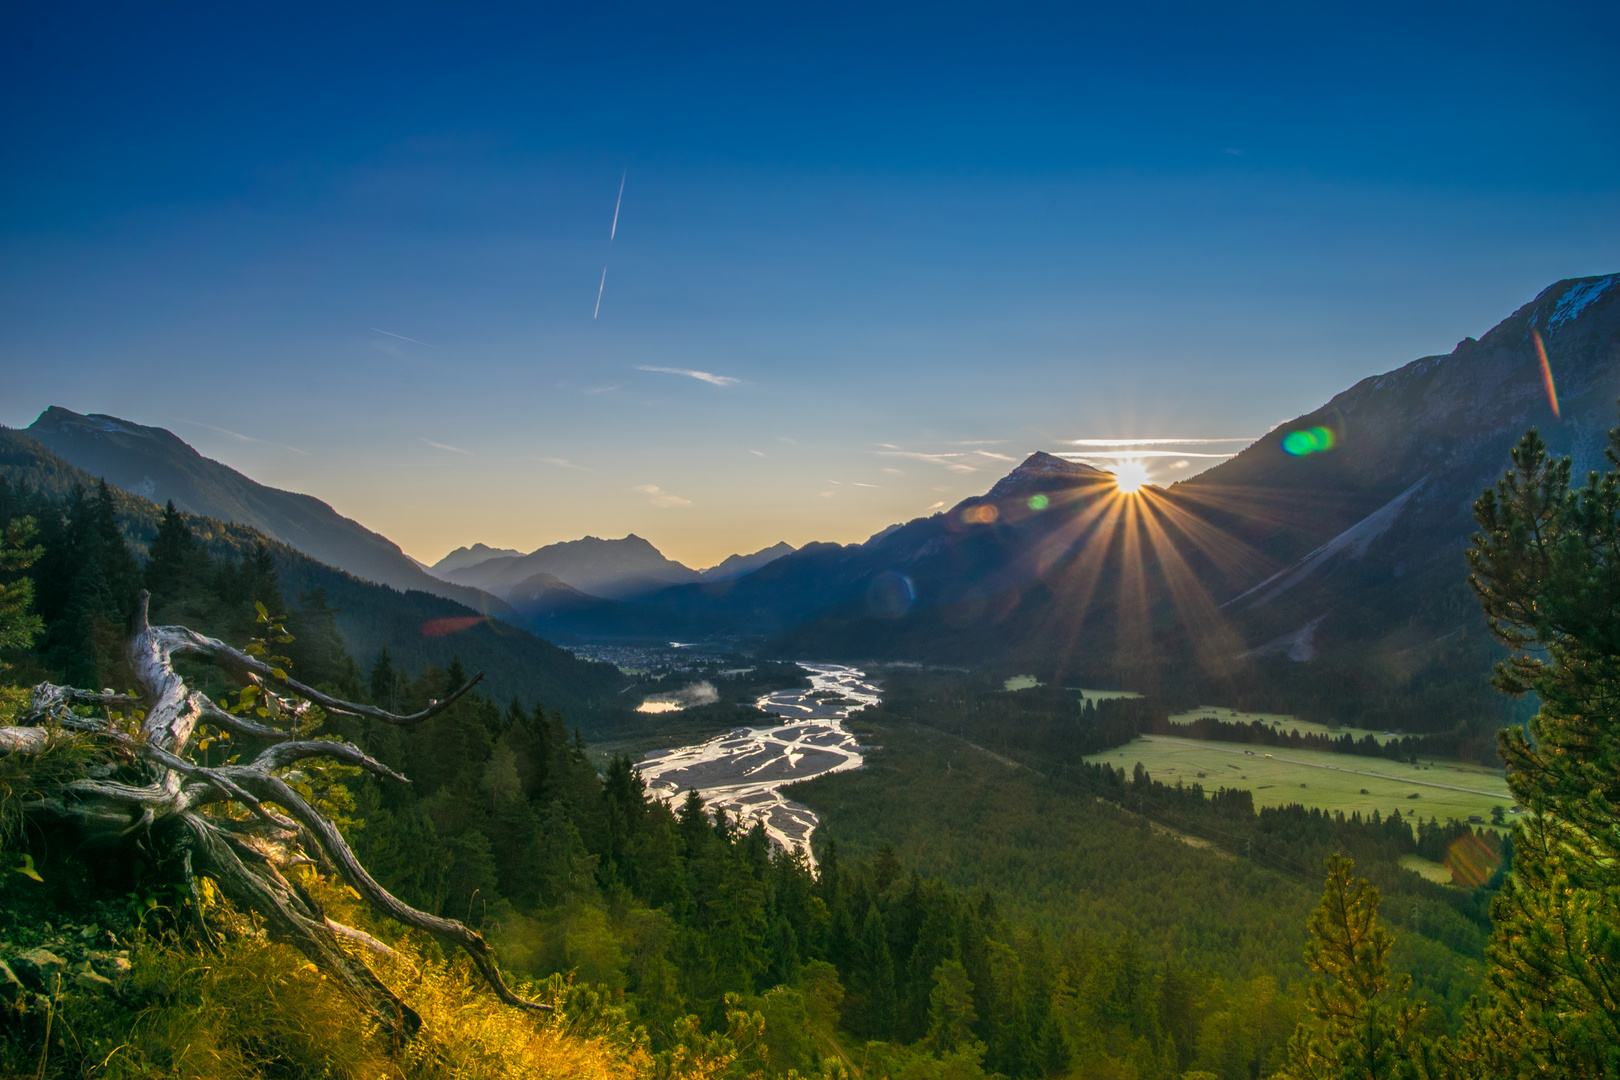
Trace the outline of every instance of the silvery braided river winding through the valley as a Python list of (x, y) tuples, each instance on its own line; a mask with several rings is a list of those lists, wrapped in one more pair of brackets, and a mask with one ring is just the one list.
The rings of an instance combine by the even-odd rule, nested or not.
[[(758, 821), (782, 848), (810, 857), (816, 816), (781, 793), (787, 784), (826, 772), (860, 767), (860, 743), (844, 727), (852, 709), (878, 703), (878, 688), (865, 672), (841, 664), (799, 664), (810, 675), (808, 690), (778, 690), (755, 704), (786, 724), (739, 727), (726, 735), (648, 755), (637, 767), (646, 790), (676, 801), (697, 789), (710, 811), (724, 810), (744, 829)], [(818, 698), (816, 693), (838, 693)]]

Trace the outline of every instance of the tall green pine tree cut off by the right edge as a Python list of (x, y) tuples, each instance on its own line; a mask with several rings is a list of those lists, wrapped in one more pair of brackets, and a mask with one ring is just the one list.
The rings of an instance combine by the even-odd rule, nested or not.
[(1524, 1075), (1620, 1072), (1620, 429), (1609, 468), (1570, 489), (1533, 429), (1474, 504), (1469, 585), (1513, 656), (1494, 683), (1541, 708), (1498, 737), (1526, 806), (1492, 908), (1494, 994), (1461, 1059)]

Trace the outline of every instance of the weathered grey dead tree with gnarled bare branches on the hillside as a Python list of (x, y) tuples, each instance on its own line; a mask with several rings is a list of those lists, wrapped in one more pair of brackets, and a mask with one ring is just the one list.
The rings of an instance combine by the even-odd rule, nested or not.
[[(81, 777), (42, 790), (40, 798), (29, 803), (28, 813), (73, 823), (89, 839), (138, 837), (177, 858), (191, 891), (198, 926), (212, 947), (214, 939), (202, 921), (196, 886), (196, 876), (207, 876), (238, 908), (258, 913), (272, 936), (296, 946), (400, 1035), (413, 1033), (420, 1018), (369, 967), (345, 952), (339, 938), (373, 952), (392, 950), (369, 934), (327, 918), (314, 897), (298, 886), (296, 876), (288, 878), (284, 870), (314, 863), (335, 873), (381, 915), (463, 949), (491, 989), (509, 1006), (549, 1009), (518, 997), (507, 988), (494, 954), (480, 934), (455, 920), (418, 912), (373, 881), (337, 827), (279, 772), (306, 758), (327, 758), (400, 784), (410, 780), (352, 743), (300, 740), (293, 732), (222, 709), (186, 685), (175, 672), (173, 657), (191, 653), (251, 678), (267, 696), (275, 696), (282, 716), (296, 717), (308, 701), (327, 712), (397, 725), (420, 724), (442, 712), (471, 690), (478, 677), (423, 712), (397, 716), (329, 698), (246, 653), (185, 627), (152, 627), (147, 622), (147, 601), (143, 591), (130, 643), (139, 696), (40, 683), (34, 687), (29, 709), (21, 717), (24, 724), (0, 727), (0, 753), (37, 755), (76, 732), (91, 733), (118, 753), (125, 776), (136, 774), (144, 784), (113, 780), (110, 771), (104, 769), (109, 776)], [(70, 709), (73, 704), (146, 709), (146, 717), (139, 730), (131, 733), (110, 719), (81, 717)], [(201, 724), (269, 740), (271, 745), (246, 764), (202, 766), (186, 756), (193, 732)], [(248, 816), (225, 813), (225, 806), (232, 805), (248, 811)]]

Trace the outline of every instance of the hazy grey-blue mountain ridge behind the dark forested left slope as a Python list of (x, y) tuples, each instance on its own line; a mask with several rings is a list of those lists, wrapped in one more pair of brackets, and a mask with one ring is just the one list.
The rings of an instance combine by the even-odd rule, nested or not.
[(70, 465), (159, 505), (173, 500), (177, 510), (246, 525), (366, 581), (433, 593), (496, 617), (510, 615), (501, 601), (429, 575), (387, 536), (319, 499), (259, 484), (202, 457), (164, 427), (50, 406), (26, 431)]

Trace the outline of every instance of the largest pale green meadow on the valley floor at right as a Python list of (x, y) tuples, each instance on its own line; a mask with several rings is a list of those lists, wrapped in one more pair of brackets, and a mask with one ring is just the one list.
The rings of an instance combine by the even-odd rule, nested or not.
[(1205, 790), (1247, 789), (1254, 792), (1256, 806), (1301, 803), (1346, 814), (1358, 810), (1362, 814), (1374, 810), (1388, 814), (1398, 808), (1403, 814), (1416, 811), (1440, 821), (1466, 821), (1477, 814), (1489, 823), (1492, 806), (1507, 810), (1513, 805), (1502, 772), (1455, 761), (1409, 766), (1383, 758), (1163, 735), (1142, 735), (1087, 761), (1106, 761), (1128, 772), (1140, 761), (1155, 780), (1165, 784), (1181, 780), (1202, 784)]

